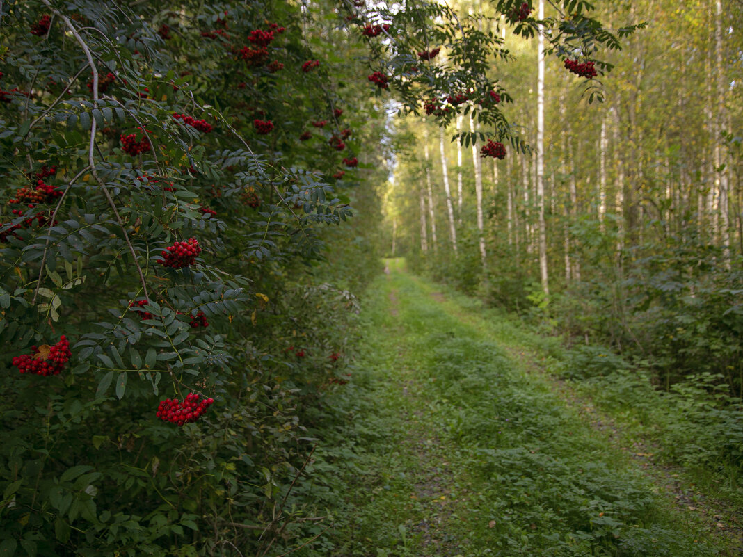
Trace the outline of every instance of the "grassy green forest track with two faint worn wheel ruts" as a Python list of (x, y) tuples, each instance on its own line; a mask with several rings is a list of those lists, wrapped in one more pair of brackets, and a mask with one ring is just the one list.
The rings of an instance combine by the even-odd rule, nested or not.
[(400, 260), (388, 268), (334, 402), (345, 422), (326, 440), (344, 448), (316, 455), (343, 486), (322, 555), (739, 555), (733, 529), (694, 512), (649, 449), (623, 446), (616, 424), (545, 374), (513, 324)]

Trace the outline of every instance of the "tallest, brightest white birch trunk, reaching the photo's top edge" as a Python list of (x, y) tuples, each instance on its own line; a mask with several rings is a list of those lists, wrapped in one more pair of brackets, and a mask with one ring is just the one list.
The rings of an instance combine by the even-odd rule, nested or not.
[[(545, 0), (539, 0), (539, 20), (545, 19)], [(549, 295), (547, 270), (547, 226), (545, 224), (545, 35), (539, 24), (537, 56), (539, 68), (536, 79), (536, 201), (539, 209), (539, 274), (542, 290)]]

